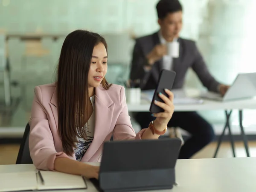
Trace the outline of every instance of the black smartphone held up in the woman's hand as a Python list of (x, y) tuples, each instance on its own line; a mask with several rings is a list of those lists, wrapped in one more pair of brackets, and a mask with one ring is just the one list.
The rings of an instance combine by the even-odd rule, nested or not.
[(163, 95), (169, 97), (164, 89), (172, 90), (172, 85), (174, 83), (175, 76), (176, 76), (176, 73), (174, 71), (165, 70), (165, 69), (161, 71), (160, 78), (157, 82), (157, 88), (154, 91), (154, 96), (149, 108), (149, 111), (151, 113), (160, 113), (164, 111), (162, 108), (154, 104), (154, 100), (163, 102), (163, 100), (158, 96), (160, 92)]

